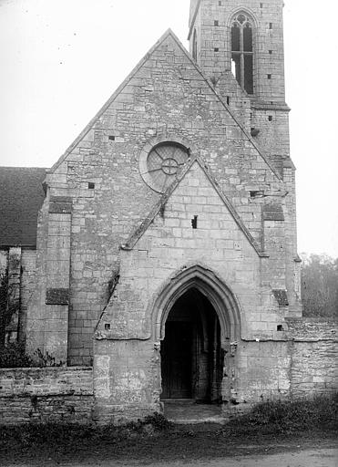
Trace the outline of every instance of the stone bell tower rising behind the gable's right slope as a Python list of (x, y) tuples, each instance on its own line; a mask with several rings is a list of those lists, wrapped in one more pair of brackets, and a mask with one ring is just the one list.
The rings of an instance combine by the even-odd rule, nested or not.
[(290, 157), (283, 0), (191, 0), (190, 54), (282, 170)]

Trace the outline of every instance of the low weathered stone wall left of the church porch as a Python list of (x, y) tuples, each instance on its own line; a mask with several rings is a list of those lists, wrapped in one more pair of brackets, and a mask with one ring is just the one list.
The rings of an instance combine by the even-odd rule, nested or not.
[(0, 424), (84, 424), (93, 404), (92, 368), (0, 368)]

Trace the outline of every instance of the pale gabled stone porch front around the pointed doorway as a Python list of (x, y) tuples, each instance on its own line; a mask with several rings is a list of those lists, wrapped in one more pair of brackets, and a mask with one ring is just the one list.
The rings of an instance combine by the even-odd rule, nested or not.
[[(194, 216), (198, 217), (197, 229), (191, 226)], [(284, 310), (271, 286), (262, 286), (257, 274), (260, 265), (269, 261), (255, 251), (200, 163), (194, 161), (137, 243), (130, 251), (121, 251), (118, 285), (101, 317), (95, 341), (97, 413), (110, 420), (135, 417), (135, 401), (126, 398), (128, 384), (135, 388), (139, 410), (159, 407), (160, 337), (155, 328), (161, 317), (155, 316), (158, 309), (152, 311), (152, 304), (163, 285), (196, 264), (213, 271), (230, 288), (241, 308), (241, 337), (254, 340), (248, 349), (239, 342), (237, 356), (231, 359), (233, 374), (223, 379), (224, 400), (229, 398), (230, 379), (234, 400), (244, 401), (248, 388), (252, 402), (260, 400), (261, 390), (270, 394), (271, 390), (289, 389), (290, 356), (287, 348), (273, 342), (281, 337), (277, 327), (285, 327)], [(223, 332), (228, 339), (234, 337), (230, 327)], [(261, 348), (255, 341), (264, 338), (272, 341), (270, 347)], [(270, 358), (262, 358), (264, 351)], [(249, 371), (261, 368), (251, 387), (251, 377), (237, 364), (237, 358), (241, 362), (249, 358)], [(273, 379), (272, 370), (277, 385), (268, 380)]]

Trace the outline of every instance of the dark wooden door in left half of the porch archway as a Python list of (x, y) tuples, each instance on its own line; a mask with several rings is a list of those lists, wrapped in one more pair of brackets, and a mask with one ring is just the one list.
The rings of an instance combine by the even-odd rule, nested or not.
[(191, 399), (193, 326), (184, 321), (166, 323), (161, 344), (163, 399)]

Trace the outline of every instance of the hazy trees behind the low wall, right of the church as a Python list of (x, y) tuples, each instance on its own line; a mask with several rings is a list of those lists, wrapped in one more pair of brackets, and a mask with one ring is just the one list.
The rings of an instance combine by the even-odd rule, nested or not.
[(302, 254), (304, 317), (338, 317), (338, 258)]

